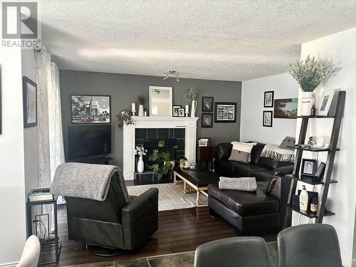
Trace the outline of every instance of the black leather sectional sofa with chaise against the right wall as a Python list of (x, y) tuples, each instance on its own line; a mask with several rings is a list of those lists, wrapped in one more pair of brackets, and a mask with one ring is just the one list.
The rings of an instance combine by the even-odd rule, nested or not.
[[(286, 214), (290, 179), (281, 176), (293, 172), (293, 163), (276, 162), (262, 158), (263, 144), (257, 144), (251, 152), (251, 163), (229, 161), (232, 145), (216, 147), (215, 172), (227, 177), (256, 177), (256, 192), (220, 190), (217, 184), (208, 186), (208, 205), (211, 216), (221, 216), (236, 229), (236, 234), (266, 229), (281, 229)], [(266, 164), (268, 166), (265, 166)], [(273, 168), (274, 164), (274, 168)], [(271, 177), (278, 172), (276, 184), (266, 194)], [(239, 178), (236, 178), (239, 179)]]

